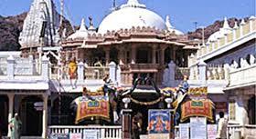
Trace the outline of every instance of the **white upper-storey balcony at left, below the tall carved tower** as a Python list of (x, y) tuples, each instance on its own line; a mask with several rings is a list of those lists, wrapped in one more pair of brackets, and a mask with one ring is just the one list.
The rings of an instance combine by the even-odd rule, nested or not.
[(48, 59), (39, 64), (29, 58), (0, 59), (0, 89), (47, 90)]

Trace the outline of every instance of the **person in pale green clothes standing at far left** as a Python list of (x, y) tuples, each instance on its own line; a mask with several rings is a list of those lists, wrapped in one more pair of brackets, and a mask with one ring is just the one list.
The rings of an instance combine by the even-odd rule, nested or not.
[(18, 114), (15, 114), (15, 117), (9, 122), (11, 128), (11, 139), (20, 139), (21, 134), (21, 121)]

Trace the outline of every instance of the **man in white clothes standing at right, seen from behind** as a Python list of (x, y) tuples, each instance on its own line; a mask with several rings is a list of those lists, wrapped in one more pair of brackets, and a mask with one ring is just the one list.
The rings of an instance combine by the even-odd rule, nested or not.
[(227, 127), (228, 127), (228, 120), (224, 118), (223, 112), (219, 112), (217, 139), (227, 139)]

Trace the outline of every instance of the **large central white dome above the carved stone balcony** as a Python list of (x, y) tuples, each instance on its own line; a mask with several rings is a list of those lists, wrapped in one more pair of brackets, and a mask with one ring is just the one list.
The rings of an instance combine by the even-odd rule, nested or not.
[(129, 0), (127, 4), (122, 5), (120, 9), (113, 11), (103, 19), (98, 33), (105, 34), (108, 30), (130, 29), (133, 26), (166, 29), (165, 21), (161, 16), (147, 10), (145, 5), (139, 4), (137, 0)]

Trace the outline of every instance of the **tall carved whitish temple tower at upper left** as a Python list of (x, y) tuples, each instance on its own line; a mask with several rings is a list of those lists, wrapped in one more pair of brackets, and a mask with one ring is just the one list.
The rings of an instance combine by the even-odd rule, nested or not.
[(59, 14), (52, 0), (34, 0), (19, 36), (21, 49), (59, 45)]

